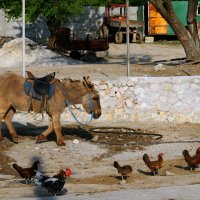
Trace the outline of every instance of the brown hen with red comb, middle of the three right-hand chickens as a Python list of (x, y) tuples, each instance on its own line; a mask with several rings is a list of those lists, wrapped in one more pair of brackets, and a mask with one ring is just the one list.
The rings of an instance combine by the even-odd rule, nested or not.
[(145, 153), (143, 155), (143, 161), (147, 167), (151, 170), (153, 175), (159, 173), (159, 169), (163, 167), (163, 153), (158, 154), (158, 160), (150, 161), (149, 156)]

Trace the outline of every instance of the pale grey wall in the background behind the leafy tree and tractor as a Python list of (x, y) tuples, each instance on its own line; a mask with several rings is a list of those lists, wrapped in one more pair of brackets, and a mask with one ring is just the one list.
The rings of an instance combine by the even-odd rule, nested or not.
[[(130, 19), (137, 19), (137, 7), (130, 7)], [(104, 7), (86, 7), (85, 13), (81, 16), (73, 17), (69, 22), (63, 24), (71, 28), (71, 33), (76, 37), (83, 38), (87, 34), (96, 38), (99, 35), (99, 27), (104, 17)], [(4, 12), (0, 11), (0, 36), (21, 37), (21, 20), (7, 22)], [(50, 32), (46, 22), (42, 16), (38, 18), (36, 23), (26, 24), (26, 37), (39, 42), (46, 43)]]

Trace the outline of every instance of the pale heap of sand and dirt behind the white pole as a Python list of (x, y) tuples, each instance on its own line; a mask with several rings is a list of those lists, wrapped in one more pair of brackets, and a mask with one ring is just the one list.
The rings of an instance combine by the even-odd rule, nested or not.
[[(80, 64), (80, 61), (66, 58), (57, 54), (45, 46), (40, 46), (32, 40), (26, 38), (25, 41), (25, 62), (26, 66), (67, 65)], [(1, 67), (22, 66), (22, 38), (17, 38), (7, 42), (0, 49)]]

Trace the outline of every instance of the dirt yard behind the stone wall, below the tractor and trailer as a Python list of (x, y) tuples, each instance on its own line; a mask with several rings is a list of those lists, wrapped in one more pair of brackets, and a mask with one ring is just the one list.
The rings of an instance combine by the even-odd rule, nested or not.
[[(198, 76), (200, 65), (187, 64), (183, 47), (176, 41), (162, 41), (153, 44), (130, 44), (130, 65), (127, 67), (126, 44), (110, 43), (108, 52), (97, 52), (96, 63), (73, 62), (69, 57), (59, 55), (50, 58), (50, 62), (36, 62), (26, 66), (36, 75), (55, 71), (56, 76), (81, 78), (89, 75), (93, 79), (109, 79), (119, 76)], [(38, 55), (39, 57), (40, 55)], [(69, 62), (60, 63), (59, 58)], [(54, 63), (52, 64), (51, 61)], [(56, 62), (57, 61), (57, 62)], [(22, 73), (22, 66), (3, 67), (0, 73), (14, 71)]]

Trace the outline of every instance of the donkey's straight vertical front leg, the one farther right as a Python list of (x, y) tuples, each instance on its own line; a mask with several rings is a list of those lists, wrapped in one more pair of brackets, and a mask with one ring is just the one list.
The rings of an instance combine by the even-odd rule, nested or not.
[(61, 113), (56, 113), (52, 116), (53, 118), (53, 127), (54, 127), (54, 131), (56, 133), (57, 136), (57, 145), (59, 146), (64, 146), (65, 143), (63, 142), (63, 136), (62, 136), (62, 128), (60, 125), (60, 117), (61, 117)]

